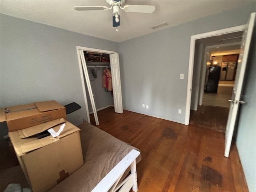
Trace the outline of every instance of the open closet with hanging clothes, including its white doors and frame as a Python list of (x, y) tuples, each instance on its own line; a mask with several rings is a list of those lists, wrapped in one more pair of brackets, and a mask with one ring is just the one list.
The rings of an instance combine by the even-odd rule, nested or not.
[(97, 111), (114, 106), (116, 113), (123, 112), (119, 56), (108, 50), (80, 46), (76, 49), (87, 121), (91, 123), (90, 114), (94, 114), (99, 125)]

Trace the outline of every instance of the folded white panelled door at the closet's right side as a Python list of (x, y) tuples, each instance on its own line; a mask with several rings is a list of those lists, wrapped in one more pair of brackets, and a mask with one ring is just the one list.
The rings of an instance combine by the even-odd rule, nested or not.
[(119, 56), (118, 53), (110, 54), (110, 67), (112, 76), (112, 89), (116, 113), (123, 113), (122, 91), (120, 80)]

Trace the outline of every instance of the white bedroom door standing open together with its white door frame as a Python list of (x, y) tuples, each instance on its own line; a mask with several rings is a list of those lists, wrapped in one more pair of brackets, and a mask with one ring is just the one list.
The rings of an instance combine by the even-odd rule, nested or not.
[[(232, 136), (234, 132), (234, 126), (237, 120), (238, 108), (240, 104), (244, 104), (245, 102), (241, 100), (242, 93), (242, 85), (244, 81), (244, 75), (246, 71), (246, 64), (248, 59), (248, 54), (250, 51), (250, 44), (252, 40), (252, 34), (254, 30), (256, 13), (253, 12), (250, 14), (249, 20), (247, 24), (243, 26), (237, 26), (234, 28), (228, 28), (224, 30), (218, 30), (214, 32), (210, 32), (208, 34), (199, 34), (196, 36), (191, 36), (191, 44), (190, 44), (190, 60), (189, 60), (189, 73), (188, 73), (188, 91), (187, 91), (187, 103), (186, 103), (186, 114), (185, 114), (185, 123), (189, 123), (189, 111), (187, 109), (190, 108), (188, 104), (191, 104), (191, 90), (192, 90), (192, 77), (193, 77), (193, 64), (194, 64), (194, 51), (195, 51), (195, 42), (197, 39), (201, 39), (202, 36), (214, 36), (212, 34), (218, 35), (220, 31), (224, 31), (222, 34), (228, 34), (231, 32), (238, 32), (241, 30), (237, 30), (238, 28), (243, 28), (243, 36), (241, 42), (241, 52), (238, 58), (238, 65), (236, 69), (236, 80), (234, 82), (234, 88), (232, 90), (232, 98), (228, 100), (230, 102), (230, 110), (228, 114), (228, 122), (225, 131), (225, 153), (224, 156), (228, 157), (230, 152), (230, 146), (232, 142)], [(230, 30), (232, 29), (232, 30)], [(229, 31), (229, 32), (228, 32)]]

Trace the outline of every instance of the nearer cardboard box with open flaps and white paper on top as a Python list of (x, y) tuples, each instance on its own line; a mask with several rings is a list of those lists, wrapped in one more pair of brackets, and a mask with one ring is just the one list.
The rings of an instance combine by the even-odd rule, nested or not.
[[(53, 128), (60, 135), (38, 139), (35, 134)], [(46, 192), (83, 164), (80, 129), (63, 118), (9, 132), (16, 156), (33, 192)]]

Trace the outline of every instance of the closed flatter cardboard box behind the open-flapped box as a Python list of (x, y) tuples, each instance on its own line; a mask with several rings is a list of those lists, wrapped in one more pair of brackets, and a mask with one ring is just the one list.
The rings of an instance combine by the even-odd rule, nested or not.
[(17, 131), (58, 118), (66, 119), (66, 108), (56, 101), (1, 108), (1, 122), (6, 121), (8, 131)]

